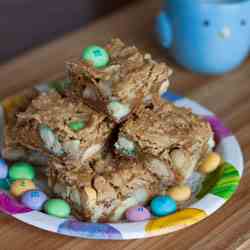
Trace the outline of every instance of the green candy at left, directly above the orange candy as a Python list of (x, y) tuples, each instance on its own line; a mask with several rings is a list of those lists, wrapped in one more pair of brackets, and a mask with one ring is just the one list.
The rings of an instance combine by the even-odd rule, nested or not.
[(11, 165), (9, 169), (9, 178), (11, 181), (19, 179), (33, 180), (35, 178), (35, 170), (29, 163), (17, 162)]

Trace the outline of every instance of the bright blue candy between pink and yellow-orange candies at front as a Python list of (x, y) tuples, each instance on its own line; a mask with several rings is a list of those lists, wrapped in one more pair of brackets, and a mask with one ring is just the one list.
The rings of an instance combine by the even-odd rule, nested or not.
[(156, 196), (150, 203), (150, 209), (155, 216), (165, 216), (176, 211), (176, 202), (167, 195)]

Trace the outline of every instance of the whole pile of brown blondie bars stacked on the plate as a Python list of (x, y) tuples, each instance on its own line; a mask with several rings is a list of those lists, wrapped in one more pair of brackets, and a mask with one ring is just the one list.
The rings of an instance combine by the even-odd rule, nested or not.
[(119, 221), (129, 207), (184, 183), (214, 144), (205, 120), (161, 99), (166, 64), (119, 39), (104, 49), (105, 67), (67, 62), (71, 84), (30, 95), (5, 136), (5, 149), (46, 156), (54, 194), (95, 222)]

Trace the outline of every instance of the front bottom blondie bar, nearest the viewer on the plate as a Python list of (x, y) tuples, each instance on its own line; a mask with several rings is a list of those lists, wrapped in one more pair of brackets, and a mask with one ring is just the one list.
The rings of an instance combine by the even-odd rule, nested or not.
[(146, 204), (154, 195), (166, 192), (143, 163), (117, 161), (110, 155), (84, 166), (78, 161), (52, 161), (48, 183), (71, 204), (76, 217), (92, 222), (119, 221), (129, 207)]

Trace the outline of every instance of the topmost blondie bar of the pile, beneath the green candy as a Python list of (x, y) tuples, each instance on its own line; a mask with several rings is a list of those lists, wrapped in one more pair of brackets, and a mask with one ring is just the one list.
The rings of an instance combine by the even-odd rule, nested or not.
[(111, 40), (104, 48), (109, 55), (105, 67), (96, 68), (84, 59), (66, 64), (72, 82), (66, 94), (83, 98), (86, 104), (120, 123), (136, 106), (150, 100), (152, 93), (164, 93), (172, 71), (119, 39)]

